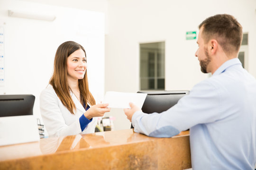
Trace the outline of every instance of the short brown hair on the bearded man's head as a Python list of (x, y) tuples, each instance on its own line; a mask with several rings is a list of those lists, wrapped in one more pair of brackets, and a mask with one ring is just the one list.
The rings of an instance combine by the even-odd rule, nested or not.
[(238, 52), (242, 38), (243, 28), (237, 19), (231, 15), (219, 14), (206, 18), (200, 25), (203, 28), (202, 38), (205, 43), (216, 39), (225, 53)]

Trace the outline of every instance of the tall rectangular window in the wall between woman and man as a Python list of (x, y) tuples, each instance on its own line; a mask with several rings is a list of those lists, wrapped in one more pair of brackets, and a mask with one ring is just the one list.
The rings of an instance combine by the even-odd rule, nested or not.
[(140, 90), (165, 90), (165, 42), (140, 44)]

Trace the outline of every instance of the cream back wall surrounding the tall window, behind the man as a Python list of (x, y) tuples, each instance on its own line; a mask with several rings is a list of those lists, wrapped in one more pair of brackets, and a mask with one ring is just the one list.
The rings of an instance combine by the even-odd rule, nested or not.
[[(165, 90), (191, 90), (209, 75), (194, 57), (186, 31), (215, 14), (235, 16), (249, 33), (249, 72), (256, 77), (256, 0), (109, 0), (105, 90), (139, 90), (139, 43), (165, 41)], [(129, 128), (122, 110), (109, 113), (117, 129)]]

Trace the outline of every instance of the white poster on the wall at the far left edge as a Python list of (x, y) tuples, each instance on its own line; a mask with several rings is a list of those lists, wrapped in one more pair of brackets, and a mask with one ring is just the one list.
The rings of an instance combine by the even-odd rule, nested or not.
[(0, 86), (4, 85), (4, 28), (0, 26)]

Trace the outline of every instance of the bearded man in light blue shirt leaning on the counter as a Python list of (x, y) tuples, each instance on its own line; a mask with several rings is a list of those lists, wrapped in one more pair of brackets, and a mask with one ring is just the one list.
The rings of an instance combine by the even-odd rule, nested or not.
[(256, 164), (256, 79), (242, 68), (242, 26), (215, 15), (199, 26), (198, 57), (212, 76), (161, 114), (125, 109), (135, 132), (171, 137), (190, 128), (193, 170), (254, 170)]

